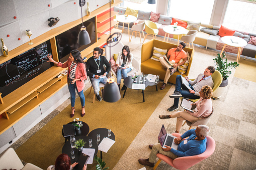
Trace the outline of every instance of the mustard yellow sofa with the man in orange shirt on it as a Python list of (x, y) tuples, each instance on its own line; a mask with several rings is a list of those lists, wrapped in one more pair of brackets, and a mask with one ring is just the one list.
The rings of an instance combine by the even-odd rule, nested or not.
[[(177, 48), (177, 44), (166, 43), (166, 42), (163, 42), (163, 41), (160, 41), (160, 40), (153, 39), (153, 40), (150, 40), (150, 41), (148, 41), (148, 42), (146, 42), (142, 45), (142, 48), (141, 48), (141, 65), (140, 65), (141, 72), (143, 72), (144, 74), (154, 74), (154, 75), (159, 74), (160, 79), (164, 80), (166, 69), (163, 68), (163, 66), (161, 65), (161, 63), (159, 61), (155, 61), (155, 60), (150, 59), (153, 55), (153, 47), (169, 50), (171, 48)], [(191, 64), (192, 64), (192, 61), (193, 61), (193, 56), (194, 56), (194, 49), (186, 47), (184, 50), (186, 52), (189, 52), (190, 62), (189, 62), (187, 72), (182, 75), (183, 77), (189, 75), (190, 67), (191, 67)], [(180, 74), (180, 72), (176, 71), (172, 76), (170, 76), (168, 82), (175, 84), (176, 76), (179, 75), (179, 74)]]

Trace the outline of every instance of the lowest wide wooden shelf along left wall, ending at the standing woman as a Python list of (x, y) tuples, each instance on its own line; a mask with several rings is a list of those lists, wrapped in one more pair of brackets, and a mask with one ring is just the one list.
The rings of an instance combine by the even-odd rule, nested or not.
[(28, 103), (23, 105), (19, 110), (15, 111), (13, 114), (9, 114), (9, 119), (0, 119), (0, 134), (12, 127), (15, 123), (37, 108), (44, 101), (49, 99), (57, 91), (62, 89), (66, 85), (63, 81), (57, 81), (50, 88), (46, 89), (44, 92), (38, 95), (38, 98), (33, 98)]

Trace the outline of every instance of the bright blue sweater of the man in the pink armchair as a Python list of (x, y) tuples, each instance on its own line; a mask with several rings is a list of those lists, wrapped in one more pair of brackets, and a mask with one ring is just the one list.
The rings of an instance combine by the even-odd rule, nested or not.
[(170, 151), (172, 151), (174, 154), (177, 156), (193, 156), (197, 154), (201, 154), (205, 151), (206, 149), (206, 138), (204, 140), (195, 140), (196, 137), (196, 129), (191, 129), (186, 131), (181, 137), (185, 138), (188, 137), (187, 139), (188, 142), (184, 144), (184, 141), (182, 141), (178, 145), (178, 150), (172, 148)]

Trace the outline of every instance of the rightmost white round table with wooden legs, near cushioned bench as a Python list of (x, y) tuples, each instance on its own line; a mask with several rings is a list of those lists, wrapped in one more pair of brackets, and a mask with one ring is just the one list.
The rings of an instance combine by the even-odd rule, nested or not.
[(224, 46), (221, 50), (220, 55), (222, 55), (226, 45), (233, 46), (233, 47), (238, 47), (237, 58), (236, 58), (236, 62), (238, 62), (240, 60), (241, 48), (246, 46), (247, 42), (245, 40), (243, 40), (242, 38), (240, 38), (240, 37), (234, 37), (234, 36), (222, 37), (221, 41), (225, 44), (224, 44)]

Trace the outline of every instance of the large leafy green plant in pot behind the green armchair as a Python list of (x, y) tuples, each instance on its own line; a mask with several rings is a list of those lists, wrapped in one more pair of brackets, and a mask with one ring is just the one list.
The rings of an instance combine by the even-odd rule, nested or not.
[(220, 98), (221, 95), (226, 91), (228, 85), (228, 75), (231, 74), (230, 69), (236, 68), (239, 66), (237, 62), (227, 62), (227, 58), (224, 53), (222, 53), (222, 57), (218, 53), (214, 60), (215, 69), (220, 72), (222, 75), (222, 83), (220, 84), (220, 88), (217, 88), (213, 93), (213, 98)]

